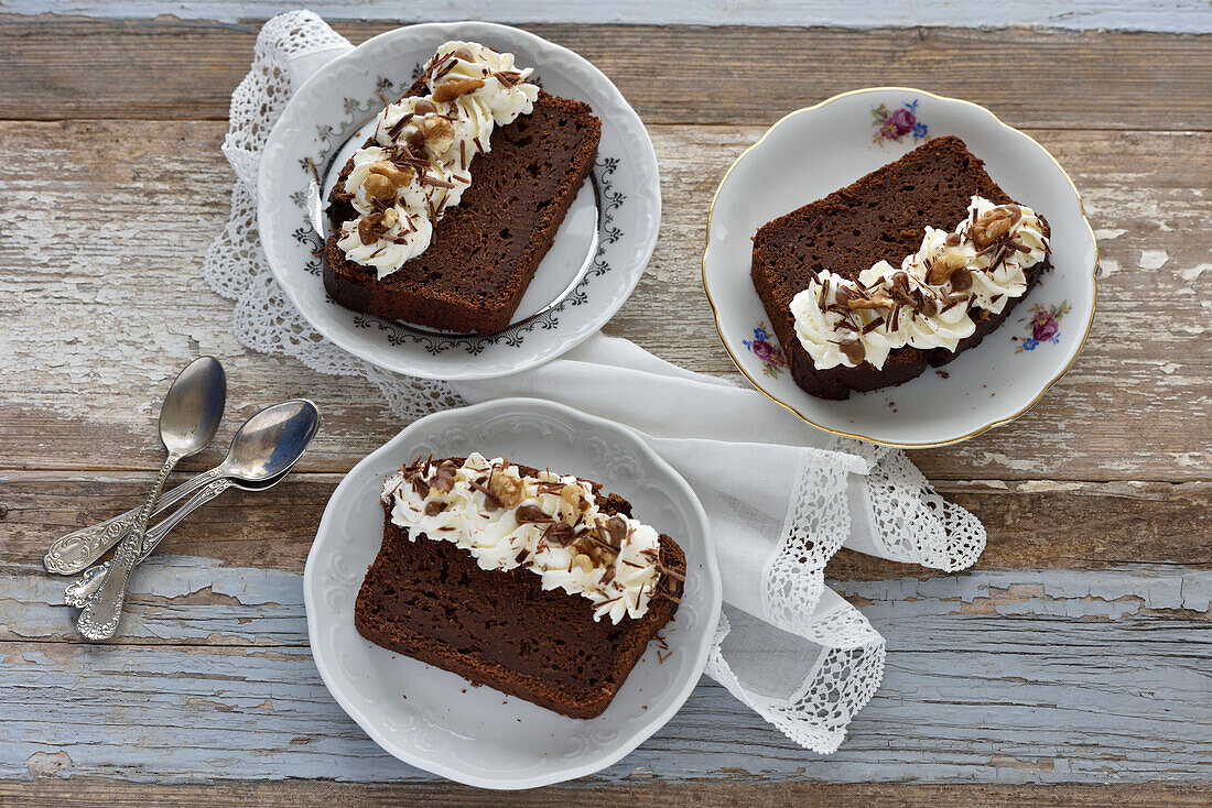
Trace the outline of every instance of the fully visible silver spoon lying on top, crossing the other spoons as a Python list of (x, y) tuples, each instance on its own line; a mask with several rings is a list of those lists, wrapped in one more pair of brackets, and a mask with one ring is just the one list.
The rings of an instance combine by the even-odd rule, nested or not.
[(86, 638), (108, 640), (118, 632), (126, 581), (135, 568), (135, 560), (143, 545), (148, 520), (160, 497), (160, 489), (164, 488), (164, 481), (182, 458), (198, 454), (211, 442), (223, 419), (225, 399), (227, 377), (223, 374), (223, 366), (213, 356), (202, 356), (190, 362), (168, 389), (160, 409), (160, 442), (168, 449), (168, 458), (152, 483), (152, 493), (139, 509), (131, 534), (118, 546), (101, 591), (88, 601), (76, 620), (76, 628)]

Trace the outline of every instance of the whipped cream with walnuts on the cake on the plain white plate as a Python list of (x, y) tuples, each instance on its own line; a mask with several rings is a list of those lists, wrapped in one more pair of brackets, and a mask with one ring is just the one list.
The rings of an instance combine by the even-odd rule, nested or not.
[(543, 589), (591, 601), (594, 620), (642, 617), (661, 575), (680, 577), (661, 565), (658, 533), (605, 514), (588, 482), (550, 471), (524, 476), (502, 458), (417, 460), (384, 481), (383, 503), (410, 540), (423, 533), (453, 541), (481, 569), (526, 567)]

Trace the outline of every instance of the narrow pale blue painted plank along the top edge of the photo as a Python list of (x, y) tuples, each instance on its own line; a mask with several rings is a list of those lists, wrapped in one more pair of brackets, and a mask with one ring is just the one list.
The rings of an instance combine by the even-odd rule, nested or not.
[[(299, 7), (297, 2), (253, 0), (10, 0), (8, 12), (53, 12), (113, 18), (172, 15), (183, 19), (235, 22)], [(492, 19), (528, 23), (648, 23), (659, 25), (835, 25), (841, 28), (1005, 28), (1037, 25), (1076, 30), (1149, 30), (1201, 34), (1212, 30), (1212, 8), (1202, 0), (492, 0), (430, 2), (315, 0), (305, 4), (335, 19)]]

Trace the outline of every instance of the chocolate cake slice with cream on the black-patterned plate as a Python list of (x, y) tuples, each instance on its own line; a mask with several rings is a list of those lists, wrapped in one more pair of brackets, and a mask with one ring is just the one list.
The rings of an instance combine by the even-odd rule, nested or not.
[(459, 333), (509, 326), (601, 138), (588, 104), (509, 53), (447, 42), (342, 168), (324, 285), (355, 311)]

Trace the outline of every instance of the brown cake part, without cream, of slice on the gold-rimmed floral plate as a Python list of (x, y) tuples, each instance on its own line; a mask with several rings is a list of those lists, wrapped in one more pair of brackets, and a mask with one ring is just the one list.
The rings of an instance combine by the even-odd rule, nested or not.
[[(905, 345), (893, 350), (880, 369), (863, 362), (818, 371), (795, 334), (790, 303), (808, 287), (810, 273), (828, 269), (854, 280), (881, 259), (899, 265), (904, 256), (917, 251), (927, 224), (950, 229), (965, 218), (974, 195), (996, 205), (1013, 201), (960, 138), (939, 137), (758, 230), (750, 276), (796, 384), (822, 399), (846, 399), (852, 390), (902, 384), (974, 348), (1010, 316), (1025, 293), (1010, 298), (996, 315), (972, 309), (976, 332), (954, 351)], [(1042, 217), (1041, 223), (1048, 235)], [(1028, 292), (1050, 267), (1047, 257), (1025, 270)]]

